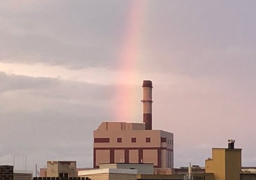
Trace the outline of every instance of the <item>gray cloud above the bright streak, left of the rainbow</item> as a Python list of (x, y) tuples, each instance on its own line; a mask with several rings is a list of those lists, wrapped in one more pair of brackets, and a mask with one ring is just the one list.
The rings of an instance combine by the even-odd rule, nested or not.
[(118, 1), (27, 2), (16, 7), (15, 13), (10, 13), (10, 9), (17, 5), (8, 4), (0, 14), (1, 58), (70, 68), (110, 68), (117, 63), (113, 48), (119, 46), (116, 41), (124, 24), (125, 4)]

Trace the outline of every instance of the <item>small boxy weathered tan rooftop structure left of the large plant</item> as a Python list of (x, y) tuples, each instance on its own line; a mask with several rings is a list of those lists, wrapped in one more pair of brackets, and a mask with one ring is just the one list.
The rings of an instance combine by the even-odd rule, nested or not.
[(48, 161), (47, 177), (77, 177), (76, 161)]

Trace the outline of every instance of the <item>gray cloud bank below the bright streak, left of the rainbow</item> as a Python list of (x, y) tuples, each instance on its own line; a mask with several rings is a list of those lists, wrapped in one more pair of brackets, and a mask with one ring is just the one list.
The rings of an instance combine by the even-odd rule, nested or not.
[[(0, 73), (0, 159), (23, 153), (41, 167), (50, 159), (91, 166), (92, 132), (111, 119), (112, 86)], [(90, 138), (91, 137), (91, 138)], [(38, 155), (40, 154), (40, 155)], [(19, 163), (19, 164), (18, 164)]]

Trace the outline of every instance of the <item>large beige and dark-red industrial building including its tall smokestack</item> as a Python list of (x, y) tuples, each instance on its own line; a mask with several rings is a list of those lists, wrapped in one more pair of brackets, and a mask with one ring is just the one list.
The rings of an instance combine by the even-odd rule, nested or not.
[(173, 133), (152, 130), (152, 82), (143, 81), (143, 122), (103, 122), (94, 131), (94, 168), (100, 164), (153, 163), (172, 168)]

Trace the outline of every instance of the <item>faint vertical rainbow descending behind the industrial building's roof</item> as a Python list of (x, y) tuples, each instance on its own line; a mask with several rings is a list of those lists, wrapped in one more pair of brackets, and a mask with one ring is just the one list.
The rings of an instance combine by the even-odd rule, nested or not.
[[(142, 33), (144, 29), (144, 23), (146, 21), (146, 0), (130, 1), (129, 13), (127, 14), (127, 24), (125, 32), (122, 36), (121, 51), (118, 56), (120, 65), (120, 76), (118, 82), (123, 84), (119, 85), (116, 92), (116, 102), (114, 114), (116, 121), (132, 121), (135, 113), (133, 103), (138, 101), (135, 99), (134, 88), (131, 88), (128, 84), (134, 84), (139, 79), (138, 66), (140, 58), (140, 47), (142, 44)], [(139, 80), (142, 82), (142, 80)]]

